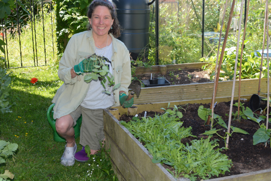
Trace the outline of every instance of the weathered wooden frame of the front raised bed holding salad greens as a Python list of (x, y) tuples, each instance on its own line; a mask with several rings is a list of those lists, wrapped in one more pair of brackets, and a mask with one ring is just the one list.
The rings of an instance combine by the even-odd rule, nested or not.
[[(183, 100), (171, 102), (173, 105), (186, 103), (210, 103), (209, 99)], [(228, 97), (217, 98), (217, 102), (228, 101)], [(143, 111), (161, 112), (161, 107), (168, 103), (140, 104), (138, 113)], [(127, 109), (121, 106), (120, 115)], [(107, 149), (111, 149), (110, 156), (115, 173), (120, 181), (173, 181), (176, 180), (161, 164), (152, 163), (152, 156), (147, 149), (108, 111), (104, 110), (104, 133)], [(271, 169), (244, 173), (234, 176), (210, 179), (210, 181), (267, 181), (271, 178)]]

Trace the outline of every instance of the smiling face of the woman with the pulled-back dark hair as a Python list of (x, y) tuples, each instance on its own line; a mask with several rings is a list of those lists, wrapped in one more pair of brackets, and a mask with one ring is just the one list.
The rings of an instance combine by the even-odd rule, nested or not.
[(108, 31), (113, 24), (114, 19), (112, 19), (110, 10), (105, 6), (97, 6), (91, 18), (89, 18), (89, 23), (92, 26), (93, 35), (104, 36), (108, 34)]

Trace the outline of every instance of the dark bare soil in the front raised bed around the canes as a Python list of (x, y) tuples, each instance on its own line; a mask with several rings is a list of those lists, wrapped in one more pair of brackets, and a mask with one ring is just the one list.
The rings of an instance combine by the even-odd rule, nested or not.
[[(234, 101), (235, 103), (236, 101)], [(192, 127), (192, 135), (195, 135), (200, 139), (201, 137), (207, 138), (206, 135), (200, 135), (204, 133), (205, 131), (210, 130), (209, 126), (204, 125), (204, 120), (202, 120), (198, 116), (198, 107), (203, 105), (206, 108), (210, 108), (210, 104), (188, 104), (188, 107), (186, 111), (179, 109), (179, 111), (182, 112), (183, 117), (180, 119), (180, 121), (183, 122), (184, 127)], [(245, 107), (249, 107), (249, 102), (246, 102)], [(186, 106), (185, 106), (186, 108)], [(228, 124), (229, 117), (226, 116), (226, 114), (229, 114), (229, 108), (230, 108), (230, 102), (220, 102), (215, 106), (214, 113), (218, 114), (219, 116), (222, 116), (222, 119)], [(270, 109), (269, 109), (270, 110)], [(237, 107), (233, 106), (233, 113), (237, 111)], [(270, 113), (270, 112), (269, 112)], [(147, 116), (154, 117), (155, 112), (147, 112)], [(256, 112), (256, 114), (260, 114), (260, 112)], [(144, 116), (144, 113), (139, 113), (139, 117)], [(132, 116), (126, 116), (125, 114), (120, 117), (120, 120), (123, 120), (125, 122), (129, 122), (132, 119)], [(261, 123), (263, 123), (262, 121)], [(237, 175), (241, 173), (248, 173), (253, 171), (259, 171), (259, 170), (265, 170), (271, 168), (271, 148), (270, 144), (267, 145), (267, 147), (264, 146), (263, 143), (253, 145), (253, 135), (254, 133), (259, 129), (259, 125), (252, 121), (252, 120), (245, 120), (241, 119), (239, 122), (238, 120), (233, 120), (231, 125), (234, 127), (238, 127), (240, 129), (245, 130), (249, 133), (249, 135), (244, 135), (241, 133), (234, 133), (232, 137), (229, 139), (229, 149), (223, 151), (222, 153), (226, 154), (229, 159), (232, 160), (232, 167), (229, 169), (230, 172), (226, 172), (225, 175), (219, 175), (219, 177), (223, 176), (230, 176), (230, 175)], [(224, 135), (227, 131), (220, 125), (216, 125), (214, 128), (221, 129), (221, 131), (218, 132), (220, 135)], [(269, 123), (268, 128), (271, 128), (271, 124)], [(225, 131), (225, 132), (224, 132)], [(243, 140), (241, 140), (243, 138)], [(193, 137), (188, 137), (185, 139), (182, 139), (182, 143), (186, 144), (188, 142), (190, 144), (191, 140), (194, 140)], [(216, 134), (213, 135), (211, 138), (220, 140), (219, 147), (225, 147), (224, 139), (220, 138)], [(190, 144), (191, 145), (191, 144)], [(173, 170), (170, 166), (167, 166), (163, 164), (165, 168), (169, 168), (170, 170)], [(217, 178), (212, 177), (212, 178)]]

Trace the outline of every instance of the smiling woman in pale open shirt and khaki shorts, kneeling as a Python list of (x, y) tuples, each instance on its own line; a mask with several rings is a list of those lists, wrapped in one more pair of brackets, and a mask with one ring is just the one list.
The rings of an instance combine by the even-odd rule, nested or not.
[[(64, 84), (52, 100), (55, 103), (56, 130), (67, 143), (61, 157), (61, 164), (65, 166), (73, 165), (75, 160), (87, 161), (86, 145), (89, 145), (91, 154), (100, 149), (100, 142), (104, 140), (103, 109), (133, 104), (133, 99), (125, 101), (131, 82), (131, 66), (129, 51), (116, 39), (120, 36), (120, 27), (114, 5), (107, 0), (94, 0), (89, 5), (87, 16), (88, 31), (71, 37), (59, 62), (58, 76)], [(84, 81), (86, 74), (83, 73), (86, 70), (91, 72), (92, 68), (83, 65), (83, 60), (93, 54), (105, 60), (115, 84), (120, 83), (116, 89), (109, 86), (111, 94), (102, 92), (104, 87), (99, 80)], [(83, 149), (75, 153), (73, 126), (81, 114), (80, 144)]]

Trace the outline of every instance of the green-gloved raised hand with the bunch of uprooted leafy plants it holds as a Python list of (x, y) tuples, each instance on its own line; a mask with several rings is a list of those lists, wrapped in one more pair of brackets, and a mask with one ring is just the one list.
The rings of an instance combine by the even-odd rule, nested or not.
[(114, 89), (120, 86), (120, 83), (115, 85), (114, 76), (110, 73), (108, 65), (105, 63), (108, 59), (105, 57), (93, 54), (88, 58), (81, 61), (78, 65), (74, 66), (74, 71), (77, 75), (86, 73), (84, 81), (87, 83), (92, 80), (100, 80), (104, 87), (104, 91), (107, 94), (111, 94), (108, 91), (108, 86), (114, 86)]

